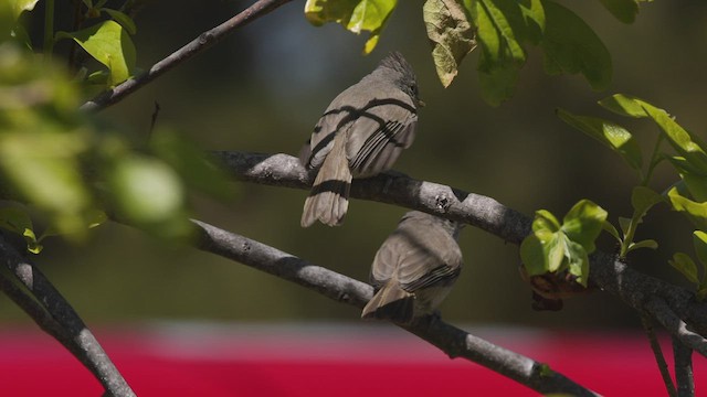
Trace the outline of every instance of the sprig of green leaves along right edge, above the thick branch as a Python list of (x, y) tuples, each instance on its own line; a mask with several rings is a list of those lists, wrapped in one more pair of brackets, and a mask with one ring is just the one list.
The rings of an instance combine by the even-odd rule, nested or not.
[[(695, 226), (693, 243), (699, 262), (705, 268), (707, 265), (705, 261), (707, 257), (704, 255), (707, 244), (705, 239), (707, 236), (705, 234), (707, 233), (707, 146), (695, 133), (677, 124), (666, 110), (643, 99), (616, 94), (600, 100), (599, 105), (620, 116), (650, 119), (658, 127), (651, 159), (647, 164), (644, 164), (633, 133), (623, 126), (603, 118), (577, 116), (566, 110), (558, 110), (562, 120), (619, 154), (639, 175), (640, 183), (633, 189), (631, 195), (633, 215), (631, 218), (619, 218), (623, 235), (619, 235), (613, 225), (609, 223), (604, 225), (604, 228), (621, 244), (620, 256), (624, 257), (631, 250), (641, 247), (657, 247), (654, 240), (634, 243), (633, 237), (648, 210), (655, 204), (665, 202)], [(663, 142), (669, 144), (667, 150), (663, 149)], [(665, 162), (677, 172), (678, 180), (658, 194), (647, 185), (655, 168)], [(699, 277), (698, 266), (688, 255), (677, 253), (669, 264), (696, 286), (700, 299), (707, 296), (705, 270)]]

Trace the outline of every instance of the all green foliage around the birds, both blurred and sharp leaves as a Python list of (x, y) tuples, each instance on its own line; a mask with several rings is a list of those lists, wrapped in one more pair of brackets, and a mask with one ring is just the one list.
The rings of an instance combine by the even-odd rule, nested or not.
[[(284, 2), (261, 0), (252, 10), (263, 12)], [(632, 23), (642, 2), (601, 0), (600, 4), (619, 21)], [(80, 109), (88, 93), (117, 93), (126, 84), (141, 84), (140, 78), (152, 73), (138, 68), (139, 49), (131, 37), (137, 32), (133, 15), (141, 1), (128, 0), (119, 8), (106, 7), (105, 0), (76, 2), (81, 23), (74, 31), (55, 31), (54, 7), (65, 4), (46, 0), (41, 51), (23, 24), (36, 3), (0, 3), (0, 192), (6, 200), (0, 206), (0, 227), (21, 236), (33, 254), (42, 250), (48, 236), (81, 239), (108, 217), (162, 237), (189, 235), (189, 192), (226, 195), (222, 170), (175, 130), (155, 129), (145, 131), (143, 139), (128, 138), (135, 135), (126, 133), (125, 127)], [(363, 47), (368, 54), (384, 40), (387, 23), (399, 6), (395, 0), (308, 0), (304, 15), (315, 25), (335, 22), (356, 34), (369, 32)], [(477, 51), (479, 95), (490, 106), (511, 99), (531, 46), (542, 54), (549, 75), (580, 75), (595, 90), (611, 83), (612, 58), (601, 37), (558, 2), (426, 0), (422, 14), (441, 84), (450, 86), (463, 73), (466, 55)], [(54, 43), (64, 40), (73, 43), (72, 53), (92, 62), (55, 54)], [(108, 105), (97, 100), (99, 108)], [(639, 248), (656, 249), (655, 239), (634, 239), (650, 211), (664, 204), (693, 225), (686, 232), (692, 233), (697, 258), (675, 253), (668, 264), (694, 286), (693, 297), (704, 300), (707, 146), (647, 100), (616, 94), (599, 105), (612, 117), (644, 119), (656, 127), (653, 149), (645, 153), (620, 121), (557, 110), (562, 121), (615, 152), (635, 172), (633, 213), (615, 217), (616, 227), (609, 221), (613, 216), (589, 200), (572, 206), (561, 223), (549, 211), (537, 211), (520, 245), (525, 272), (531, 278), (569, 275), (571, 282), (585, 288), (592, 281), (591, 257), (598, 251), (595, 239), (601, 232), (616, 239), (621, 259)], [(658, 165), (674, 171), (672, 184), (654, 185)], [(41, 232), (34, 227), (36, 217), (48, 225)], [(682, 343), (680, 335), (676, 331), (676, 343)], [(704, 341), (704, 334), (700, 337)], [(703, 352), (700, 346), (688, 345)]]

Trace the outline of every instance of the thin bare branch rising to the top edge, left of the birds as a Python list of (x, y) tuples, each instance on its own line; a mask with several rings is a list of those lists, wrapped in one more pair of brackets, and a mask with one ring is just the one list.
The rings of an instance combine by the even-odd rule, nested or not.
[(256, 1), (253, 6), (249, 7), (238, 15), (207, 32), (201, 33), (199, 37), (192, 40), (166, 58), (156, 63), (147, 72), (140, 74), (139, 76), (128, 78), (127, 81), (117, 85), (115, 88), (97, 95), (93, 99), (82, 105), (81, 109), (86, 111), (98, 111), (116, 104), (117, 101), (124, 99), (126, 96), (147, 85), (158, 76), (162, 75), (165, 72), (211, 47), (223, 37), (225, 37), (229, 33), (235, 31), (238, 28), (246, 25), (247, 23), (270, 13), (279, 6), (289, 1), (292, 0)]

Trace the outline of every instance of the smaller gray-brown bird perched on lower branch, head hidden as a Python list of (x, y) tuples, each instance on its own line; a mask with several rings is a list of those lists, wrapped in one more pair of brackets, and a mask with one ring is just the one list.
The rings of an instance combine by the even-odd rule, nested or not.
[(409, 324), (432, 314), (462, 271), (461, 228), (423, 212), (407, 213), (376, 254), (370, 273), (376, 294), (361, 318)]

